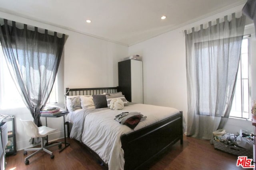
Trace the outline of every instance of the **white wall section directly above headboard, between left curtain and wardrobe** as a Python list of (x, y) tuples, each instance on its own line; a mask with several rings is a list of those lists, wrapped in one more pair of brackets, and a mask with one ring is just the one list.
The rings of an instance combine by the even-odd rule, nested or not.
[(65, 44), (65, 88), (118, 86), (118, 61), (128, 47), (72, 33)]

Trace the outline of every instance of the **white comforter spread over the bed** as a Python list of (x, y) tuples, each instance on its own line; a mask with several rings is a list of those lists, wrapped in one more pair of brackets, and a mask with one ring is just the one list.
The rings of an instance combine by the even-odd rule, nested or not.
[[(128, 126), (121, 125), (117, 121), (114, 121), (116, 115), (126, 111), (138, 111), (142, 113), (142, 115), (147, 116), (147, 118), (144, 121), (140, 121), (134, 130), (132, 130)], [(124, 151), (121, 148), (120, 136), (142, 129), (143, 127), (170, 117), (178, 112), (177, 109), (171, 107), (146, 104), (125, 106), (122, 110), (95, 109), (93, 112), (86, 112), (86, 116), (82, 116), (84, 119), (82, 142), (90, 149), (94, 150), (94, 152), (108, 164), (109, 170), (123, 170)], [(72, 113), (74, 115), (70, 114), (69, 121), (74, 123), (75, 118), (82, 119), (78, 118), (79, 113), (81, 113), (81, 111)], [(79, 137), (75, 137), (75, 135), (72, 136), (72, 131), (70, 137), (79, 139)]]

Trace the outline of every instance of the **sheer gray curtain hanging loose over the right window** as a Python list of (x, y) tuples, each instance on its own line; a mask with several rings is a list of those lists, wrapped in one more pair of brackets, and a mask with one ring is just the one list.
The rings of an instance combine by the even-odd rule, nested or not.
[(245, 16), (235, 15), (185, 31), (188, 136), (211, 139), (230, 114), (245, 24)]

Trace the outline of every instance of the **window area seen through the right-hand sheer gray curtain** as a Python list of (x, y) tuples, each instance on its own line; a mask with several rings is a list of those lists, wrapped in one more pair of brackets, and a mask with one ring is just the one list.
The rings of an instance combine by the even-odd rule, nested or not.
[[(230, 97), (226, 96), (226, 92), (231, 92), (229, 86), (226, 87), (222, 84), (220, 76), (222, 76), (225, 70), (230, 74), (236, 74), (236, 68), (229, 69), (227, 66), (231, 55), (237, 55), (238, 52), (230, 52), (228, 55), (220, 55), (225, 53), (226, 49), (230, 48), (230, 44), (238, 46), (238, 40), (236, 38), (224, 38), (214, 39), (211, 41), (202, 41), (194, 43), (194, 56), (195, 59), (195, 71), (194, 75), (196, 79), (194, 84), (194, 91), (196, 92), (196, 108), (198, 109), (196, 114), (221, 117), (222, 111), (225, 106), (219, 103), (230, 101)], [(220, 48), (223, 47), (223, 48)], [(225, 64), (223, 64), (225, 63)], [(238, 61), (236, 61), (236, 64)], [(220, 66), (218, 65), (220, 64)], [(227, 67), (227, 68), (226, 68)], [(226, 78), (224, 78), (225, 80)], [(227, 88), (227, 89), (226, 89)], [(225, 100), (225, 98), (227, 98)]]

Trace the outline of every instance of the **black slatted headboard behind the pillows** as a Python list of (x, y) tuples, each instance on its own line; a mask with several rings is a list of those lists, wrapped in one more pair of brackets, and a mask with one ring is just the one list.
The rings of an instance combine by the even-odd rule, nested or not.
[(65, 96), (94, 95), (102, 93), (116, 93), (118, 87), (102, 87), (102, 88), (66, 88)]

